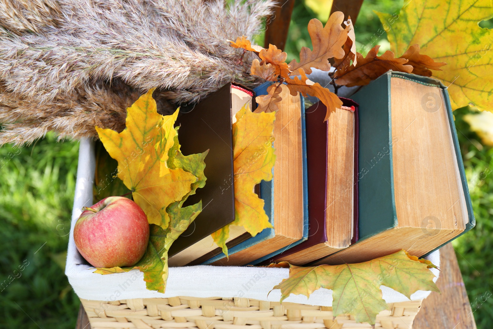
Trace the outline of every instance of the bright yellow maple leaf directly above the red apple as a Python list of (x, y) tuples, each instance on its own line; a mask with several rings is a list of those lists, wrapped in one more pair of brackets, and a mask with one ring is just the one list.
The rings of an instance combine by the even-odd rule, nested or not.
[(175, 144), (172, 115), (157, 113), (152, 90), (127, 109), (126, 128), (121, 133), (96, 127), (109, 155), (118, 161), (118, 178), (133, 193), (149, 223), (166, 229), (170, 221), (166, 207), (191, 191), (197, 177), (167, 165), (168, 150)]

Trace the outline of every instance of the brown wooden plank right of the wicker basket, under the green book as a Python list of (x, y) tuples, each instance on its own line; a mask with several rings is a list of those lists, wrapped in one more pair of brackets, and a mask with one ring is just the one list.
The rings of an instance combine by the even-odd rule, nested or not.
[(437, 286), (442, 293), (431, 292), (423, 300), (413, 329), (476, 329), (457, 257), (450, 243), (440, 249), (440, 269)]

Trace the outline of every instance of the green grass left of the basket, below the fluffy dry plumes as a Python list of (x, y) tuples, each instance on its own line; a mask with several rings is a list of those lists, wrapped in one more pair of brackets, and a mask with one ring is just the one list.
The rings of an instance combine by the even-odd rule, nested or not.
[(75, 327), (80, 301), (64, 264), (77, 154), (53, 135), (0, 147), (0, 328)]

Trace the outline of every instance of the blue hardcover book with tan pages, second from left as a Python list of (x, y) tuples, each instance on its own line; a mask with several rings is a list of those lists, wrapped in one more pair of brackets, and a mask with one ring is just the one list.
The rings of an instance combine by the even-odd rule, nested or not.
[[(259, 91), (257, 94), (262, 94), (262, 92)], [(276, 113), (274, 123), (276, 163), (274, 165), (274, 178), (270, 182), (274, 186), (271, 202), (274, 229), (266, 229), (269, 233), (265, 233), (264, 230), (257, 236), (245, 241), (242, 245), (246, 245), (246, 248), (230, 253), (229, 259), (222, 254), (222, 258), (216, 256), (206, 261), (206, 264), (245, 265), (303, 238), (301, 98), (300, 96), (291, 96), (286, 90), (282, 94), (282, 102), (278, 104), (279, 111)]]

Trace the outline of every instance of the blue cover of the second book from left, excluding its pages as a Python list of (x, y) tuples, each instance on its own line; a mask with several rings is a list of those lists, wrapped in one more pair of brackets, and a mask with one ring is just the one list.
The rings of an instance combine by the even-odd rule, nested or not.
[[(269, 87), (272, 84), (272, 82), (264, 82), (260, 86), (256, 87), (253, 89), (253, 92), (255, 93), (256, 96), (259, 95), (267, 95), (267, 87)], [(306, 152), (306, 138), (305, 138), (305, 101), (303, 96), (301, 96), (301, 130), (302, 130), (302, 149), (303, 149), (303, 181), (307, 182), (307, 152)], [(274, 147), (276, 142), (274, 142)], [(274, 169), (273, 173), (274, 173)], [(269, 217), (269, 222), (274, 226), (274, 178), (269, 181), (265, 182), (262, 181), (260, 182), (260, 198), (264, 200), (264, 210), (267, 216)], [(292, 243), (290, 246), (295, 246), (297, 244), (300, 244), (301, 242), (305, 241), (308, 237), (308, 205), (305, 200), (308, 198), (308, 189), (307, 189), (307, 184), (303, 183), (303, 238)], [(262, 230), (262, 232), (258, 233), (254, 237), (251, 237), (247, 239), (246, 241), (228, 249), (228, 254), (233, 255), (241, 250), (244, 250), (246, 248), (249, 248), (253, 245), (258, 244), (261, 241), (265, 241), (268, 239), (272, 239), (276, 235), (275, 229), (273, 228), (265, 228)], [(289, 247), (289, 246), (288, 246)], [(282, 248), (279, 253), (281, 253), (284, 249), (287, 247)], [(268, 255), (269, 257), (274, 256), (274, 254), (278, 253), (272, 253)], [(271, 256), (272, 255), (272, 256)], [(219, 260), (221, 258), (224, 258), (224, 254), (219, 254), (217, 256), (212, 257), (211, 259), (205, 261), (203, 264), (211, 264), (216, 260)], [(266, 256), (265, 256), (266, 257)], [(265, 257), (261, 258), (264, 259)], [(256, 264), (261, 261), (261, 259), (255, 260), (251, 262), (250, 264)]]

